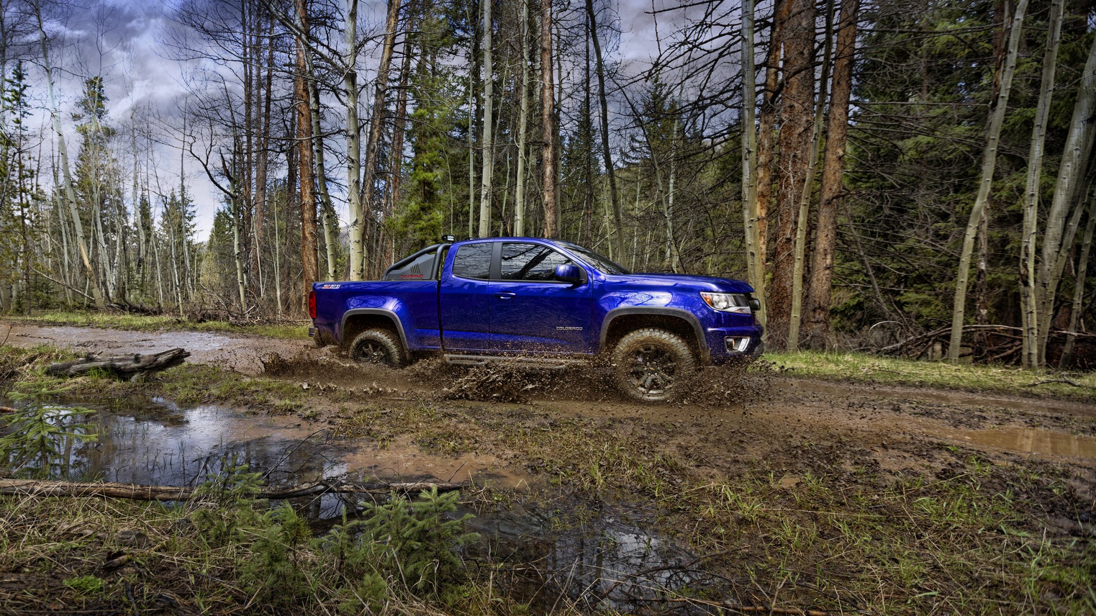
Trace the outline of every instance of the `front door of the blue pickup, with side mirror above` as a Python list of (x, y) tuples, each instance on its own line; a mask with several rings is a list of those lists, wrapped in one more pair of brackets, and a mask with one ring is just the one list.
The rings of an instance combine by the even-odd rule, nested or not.
[(526, 353), (590, 351), (590, 282), (556, 280), (556, 266), (573, 263), (543, 244), (502, 244), (491, 282), (491, 348)]

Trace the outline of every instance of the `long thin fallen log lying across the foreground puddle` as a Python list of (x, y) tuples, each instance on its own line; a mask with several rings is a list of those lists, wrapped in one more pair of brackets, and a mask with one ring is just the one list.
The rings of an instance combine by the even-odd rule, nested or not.
[[(267, 488), (255, 495), (256, 499), (281, 500), (323, 493), (412, 493), (437, 488), (449, 492), (468, 487), (468, 484), (452, 481), (316, 481), (290, 488)], [(195, 486), (147, 486), (142, 484), (42, 481), (37, 479), (0, 479), (0, 495), (38, 497), (109, 497), (130, 500), (190, 500)]]

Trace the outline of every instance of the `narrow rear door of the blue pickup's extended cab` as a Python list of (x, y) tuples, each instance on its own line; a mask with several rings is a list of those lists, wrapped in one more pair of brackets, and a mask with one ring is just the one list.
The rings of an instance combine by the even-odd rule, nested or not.
[(461, 244), (450, 271), (442, 274), (438, 304), (446, 351), (491, 349), (490, 278), (493, 242)]

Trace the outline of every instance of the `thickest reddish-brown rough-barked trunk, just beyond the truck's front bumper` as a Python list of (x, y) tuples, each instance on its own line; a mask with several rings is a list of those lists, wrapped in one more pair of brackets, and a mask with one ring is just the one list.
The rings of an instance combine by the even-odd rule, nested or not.
[(789, 0), (784, 37), (784, 100), (780, 105), (780, 154), (777, 174), (777, 233), (773, 280), (768, 287), (768, 336), (778, 347), (788, 342), (795, 274), (796, 214), (809, 168), (814, 120), (814, 21), (811, 0)]

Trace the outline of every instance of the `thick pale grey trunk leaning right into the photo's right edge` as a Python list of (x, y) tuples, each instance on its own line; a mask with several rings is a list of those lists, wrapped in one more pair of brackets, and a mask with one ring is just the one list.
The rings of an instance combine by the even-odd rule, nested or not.
[(1092, 150), (1094, 116), (1096, 116), (1096, 39), (1093, 39), (1093, 45), (1088, 49), (1088, 59), (1081, 75), (1070, 132), (1065, 138), (1065, 150), (1054, 184), (1054, 197), (1047, 212), (1042, 259), (1036, 278), (1037, 307), (1038, 314), (1041, 315), (1038, 319), (1037, 349), (1040, 365), (1047, 361), (1047, 339), (1050, 336), (1051, 322), (1054, 319), (1054, 295), (1061, 272), (1058, 263), (1062, 260), (1062, 255), (1069, 251), (1073, 242), (1072, 235), (1065, 241), (1065, 222), (1078, 185), (1085, 183), (1084, 173)]

